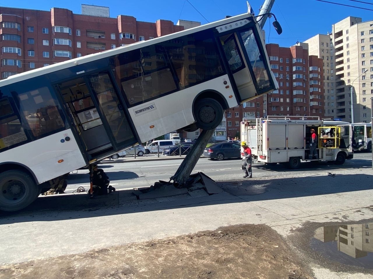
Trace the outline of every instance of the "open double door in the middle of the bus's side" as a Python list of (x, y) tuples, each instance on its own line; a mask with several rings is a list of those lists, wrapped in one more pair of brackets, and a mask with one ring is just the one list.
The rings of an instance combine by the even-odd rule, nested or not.
[(109, 72), (56, 84), (88, 161), (105, 158), (137, 141), (113, 84)]

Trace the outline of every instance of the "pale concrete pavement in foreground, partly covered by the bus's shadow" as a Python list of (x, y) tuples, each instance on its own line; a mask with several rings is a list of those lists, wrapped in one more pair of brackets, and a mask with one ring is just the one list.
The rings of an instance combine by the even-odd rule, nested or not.
[[(266, 224), (290, 244), (295, 235), (307, 244), (315, 227), (373, 220), (372, 169), (333, 173), (335, 176), (328, 176), (327, 171), (280, 172), (278, 176), (217, 181), (223, 193), (126, 206), (119, 200), (124, 191), (92, 200), (87, 194), (38, 198), (21, 212), (2, 214), (0, 263), (75, 254), (235, 224)], [(308, 230), (309, 235), (300, 230)], [(373, 278), (348, 272), (342, 276), (324, 269), (313, 265), (316, 274), (327, 274), (318, 278)]]

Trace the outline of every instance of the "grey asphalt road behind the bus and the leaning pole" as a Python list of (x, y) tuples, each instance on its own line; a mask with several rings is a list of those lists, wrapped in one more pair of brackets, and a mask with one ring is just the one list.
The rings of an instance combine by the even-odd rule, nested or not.
[[(143, 158), (142, 158), (143, 159)], [(153, 185), (159, 180), (169, 181), (169, 178), (175, 174), (180, 160), (161, 160), (161, 161), (125, 161), (104, 160), (99, 164), (110, 179), (110, 185), (117, 189), (127, 189), (133, 187), (147, 187)], [(276, 166), (264, 166), (253, 164), (253, 177), (269, 177), (279, 175), (291, 175), (301, 173), (319, 173), (320, 171), (336, 171), (369, 168), (372, 167), (372, 154), (366, 152), (357, 152), (354, 159), (346, 160), (342, 166), (332, 163), (311, 163), (302, 162), (298, 170), (290, 170), (280, 164)], [(207, 158), (201, 158), (195, 166), (193, 172), (201, 171), (214, 180), (240, 180), (244, 175), (241, 169), (240, 159), (226, 159), (223, 161), (213, 161)], [(66, 192), (72, 192), (79, 186), (88, 189), (89, 176), (88, 170), (77, 170), (70, 174)]]

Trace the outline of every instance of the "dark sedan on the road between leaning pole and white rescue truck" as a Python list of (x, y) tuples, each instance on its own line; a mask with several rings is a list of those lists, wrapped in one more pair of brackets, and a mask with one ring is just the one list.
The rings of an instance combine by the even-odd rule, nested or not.
[(206, 147), (203, 156), (218, 161), (225, 158), (241, 158), (241, 147), (235, 142), (220, 142)]

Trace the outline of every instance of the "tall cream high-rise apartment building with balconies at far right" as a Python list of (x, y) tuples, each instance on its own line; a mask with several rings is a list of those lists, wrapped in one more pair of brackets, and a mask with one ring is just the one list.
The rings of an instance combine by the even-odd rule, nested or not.
[(330, 34), (318, 34), (305, 42), (310, 54), (322, 58), (325, 71), (329, 70), (330, 75), (325, 73), (329, 80), (324, 80), (326, 116), (349, 122), (370, 122), (373, 21), (362, 22), (360, 17), (349, 16), (333, 24)]

